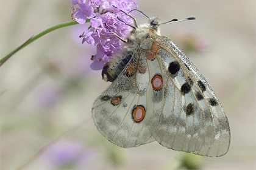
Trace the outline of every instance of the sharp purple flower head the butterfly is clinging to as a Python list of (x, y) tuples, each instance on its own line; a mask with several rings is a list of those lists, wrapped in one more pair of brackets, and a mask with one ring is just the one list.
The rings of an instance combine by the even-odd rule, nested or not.
[[(127, 30), (130, 29), (124, 22), (133, 24), (132, 18), (120, 10), (130, 12), (132, 9), (137, 9), (137, 2), (133, 0), (73, 0), (72, 4), (78, 5), (76, 9), (72, 8), (75, 21), (84, 24), (87, 19), (90, 19), (90, 29), (86, 33), (82, 33), (80, 38), (82, 38), (82, 43), (96, 45), (97, 53), (91, 57), (93, 63), (90, 67), (93, 70), (101, 70), (113, 53), (122, 47), (123, 42), (112, 32), (124, 38)], [(124, 22), (119, 21), (118, 18)]]

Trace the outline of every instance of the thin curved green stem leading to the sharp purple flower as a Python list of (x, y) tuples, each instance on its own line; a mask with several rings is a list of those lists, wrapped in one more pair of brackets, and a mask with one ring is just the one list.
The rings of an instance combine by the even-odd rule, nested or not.
[(20, 49), (23, 49), (24, 47), (26, 47), (27, 45), (29, 45), (31, 42), (35, 41), (36, 39), (40, 38), (41, 36), (46, 35), (47, 33), (52, 32), (54, 30), (57, 30), (57, 29), (60, 29), (60, 28), (63, 28), (63, 27), (67, 27), (67, 26), (70, 26), (70, 25), (76, 25), (76, 24), (78, 24), (78, 23), (74, 22), (74, 21), (66, 22), (66, 23), (63, 23), (63, 24), (55, 25), (54, 27), (51, 27), (51, 28), (49, 28), (47, 30), (44, 30), (43, 32), (38, 33), (38, 35), (36, 35), (36, 36), (32, 36), (32, 38), (27, 40), (24, 44), (22, 44), (21, 46), (19, 46), (18, 48), (16, 48), (12, 52), (10, 52), (7, 56), (2, 58), (0, 60), (0, 66), (2, 66), (2, 64), (4, 64), (5, 61), (7, 61), (13, 54), (18, 52)]

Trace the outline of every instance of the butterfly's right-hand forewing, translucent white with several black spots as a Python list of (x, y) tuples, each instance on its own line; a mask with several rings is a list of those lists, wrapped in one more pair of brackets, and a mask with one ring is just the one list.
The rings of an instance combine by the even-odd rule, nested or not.
[[(175, 114), (177, 116), (174, 118), (176, 123), (170, 123), (169, 130), (165, 130), (165, 135), (172, 137), (166, 137), (165, 135), (159, 137), (157, 135), (158, 137), (155, 139), (163, 146), (179, 151), (193, 152), (210, 157), (226, 154), (230, 140), (229, 123), (213, 90), (193, 63), (187, 56), (183, 55), (171, 40), (162, 36), (155, 36), (155, 41), (158, 41), (158, 44), (162, 46), (163, 52), (160, 50), (158, 56), (160, 56), (166, 72), (169, 72), (167, 76), (173, 80), (172, 83), (176, 86), (175, 90), (181, 93), (180, 97), (175, 97), (175, 90), (166, 91), (169, 98), (174, 97), (174, 100), (180, 102), (181, 108), (179, 108), (180, 112)], [(166, 53), (169, 53), (169, 55), (166, 55)], [(170, 63), (174, 60), (177, 61), (180, 70), (176, 70), (177, 73), (174, 70), (172, 73), (175, 74), (172, 74), (170, 73)], [(172, 89), (172, 83), (167, 89)], [(184, 87), (183, 90), (182, 87)], [(165, 100), (165, 102), (169, 101), (173, 103), (172, 100)], [(169, 106), (170, 109), (174, 109), (177, 104), (171, 104), (172, 106), (165, 104), (165, 107)], [(166, 108), (165, 110), (168, 112), (170, 109)], [(165, 112), (163, 112), (163, 115), (165, 115)], [(162, 122), (169, 118), (163, 117), (162, 120), (160, 119), (158, 126), (162, 126)], [(177, 124), (177, 121), (179, 121), (179, 124)], [(163, 127), (160, 127), (160, 129), (163, 129)], [(177, 131), (174, 131), (174, 129), (177, 129)], [(156, 131), (155, 134), (161, 134), (161, 131)]]

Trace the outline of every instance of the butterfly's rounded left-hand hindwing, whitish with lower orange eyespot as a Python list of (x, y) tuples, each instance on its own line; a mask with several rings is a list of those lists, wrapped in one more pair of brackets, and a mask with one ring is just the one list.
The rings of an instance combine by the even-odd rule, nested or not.
[(99, 132), (123, 148), (154, 141), (151, 138), (153, 107), (152, 101), (148, 101), (148, 92), (152, 94), (149, 70), (145, 53), (135, 53), (137, 55), (132, 56), (116, 80), (94, 101), (92, 108)]

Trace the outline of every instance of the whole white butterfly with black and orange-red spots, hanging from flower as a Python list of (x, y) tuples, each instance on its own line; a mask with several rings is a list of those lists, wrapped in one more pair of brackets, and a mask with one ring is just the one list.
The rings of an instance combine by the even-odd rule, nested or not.
[(102, 70), (103, 80), (112, 84), (91, 110), (98, 131), (123, 148), (157, 141), (176, 151), (226, 154), (229, 122), (210, 85), (171, 39), (160, 35), (158, 18), (133, 21), (127, 39), (118, 37), (126, 42), (123, 50)]

